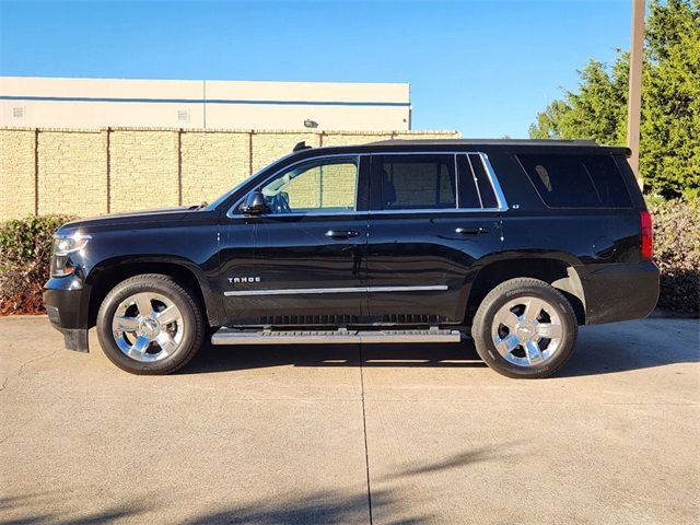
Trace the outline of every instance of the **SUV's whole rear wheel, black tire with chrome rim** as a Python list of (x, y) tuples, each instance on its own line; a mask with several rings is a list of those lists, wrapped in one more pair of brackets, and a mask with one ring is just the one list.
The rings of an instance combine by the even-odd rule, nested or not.
[(517, 278), (481, 301), (471, 337), (479, 357), (498, 373), (540, 378), (567, 363), (578, 330), (573, 308), (558, 290), (538, 279)]

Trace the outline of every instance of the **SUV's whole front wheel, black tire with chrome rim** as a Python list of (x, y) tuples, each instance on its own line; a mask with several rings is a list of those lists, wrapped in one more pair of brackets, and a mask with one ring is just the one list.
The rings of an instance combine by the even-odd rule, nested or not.
[(207, 323), (194, 294), (168, 276), (144, 273), (117, 284), (97, 313), (97, 338), (121, 370), (163, 375), (202, 347)]

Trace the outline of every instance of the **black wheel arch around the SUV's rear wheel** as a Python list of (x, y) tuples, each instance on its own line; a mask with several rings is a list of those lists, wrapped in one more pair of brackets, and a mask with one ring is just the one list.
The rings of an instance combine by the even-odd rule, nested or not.
[(576, 322), (585, 324), (585, 294), (572, 260), (569, 257), (534, 255), (500, 258), (479, 269), (467, 296), (466, 324), (474, 318), (479, 304), (491, 290), (518, 277), (539, 279), (562, 292), (576, 314)]

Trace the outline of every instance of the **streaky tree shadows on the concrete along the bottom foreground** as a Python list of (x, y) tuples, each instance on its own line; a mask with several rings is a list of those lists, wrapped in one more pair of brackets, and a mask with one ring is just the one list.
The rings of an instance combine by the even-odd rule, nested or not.
[[(411, 478), (422, 478), (440, 475), (448, 470), (471, 468), (481, 463), (508, 462), (518, 455), (514, 450), (517, 442), (502, 442), (482, 445), (474, 448), (463, 448), (446, 457), (433, 460), (419, 460), (404, 464), (390, 474), (377, 476), (373, 482), (385, 487), (396, 486)], [(279, 494), (275, 498), (261, 498), (245, 503), (237, 501), (237, 489), (231, 490), (229, 501), (213, 504), (212, 510), (190, 516), (183, 516), (182, 523), (192, 525), (256, 523), (272, 524), (308, 524), (308, 523), (371, 523), (370, 509), (374, 516), (389, 517), (392, 524), (422, 524), (432, 523), (434, 516), (407, 512), (407, 506), (420, 509), (432, 498), (430, 493), (423, 495), (412, 493), (410, 503), (401, 499), (401, 492), (389, 488), (373, 488), (370, 494), (366, 488), (354, 490), (329, 487), (322, 490), (295, 490), (291, 493)], [(91, 488), (92, 489), (92, 488)], [(89, 492), (90, 490), (89, 489)], [(51, 491), (27, 493), (23, 495), (0, 497), (0, 516), (4, 513), (12, 517), (0, 517), (0, 525), (28, 524), (98, 524), (114, 522), (153, 523), (153, 514), (165, 509), (172, 499), (196, 500), (198, 493), (183, 491), (180, 487), (173, 487), (164, 495), (161, 491), (138, 487), (132, 498), (124, 498), (117, 502), (104, 501), (101, 509), (77, 511), (81, 505), (77, 499), (85, 497), (84, 490), (72, 488), (57, 488)], [(78, 500), (80, 501), (80, 500)], [(92, 500), (91, 500), (92, 502)], [(40, 511), (39, 509), (45, 509)]]

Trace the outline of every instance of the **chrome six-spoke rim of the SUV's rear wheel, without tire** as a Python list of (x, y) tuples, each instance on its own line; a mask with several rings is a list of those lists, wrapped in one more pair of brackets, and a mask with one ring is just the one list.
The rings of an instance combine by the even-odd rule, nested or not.
[(557, 352), (563, 328), (557, 311), (547, 301), (523, 296), (501, 306), (493, 316), (491, 334), (497, 350), (506, 361), (534, 366)]

